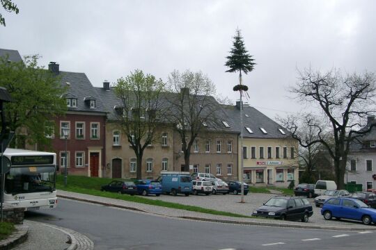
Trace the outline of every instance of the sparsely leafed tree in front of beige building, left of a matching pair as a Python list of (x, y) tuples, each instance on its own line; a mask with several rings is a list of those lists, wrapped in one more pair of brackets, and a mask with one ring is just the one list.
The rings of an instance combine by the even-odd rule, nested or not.
[(118, 108), (118, 120), (136, 154), (139, 179), (142, 178), (143, 151), (156, 140), (156, 128), (164, 120), (160, 100), (164, 86), (162, 80), (138, 69), (119, 78), (114, 86), (116, 96), (123, 103)]

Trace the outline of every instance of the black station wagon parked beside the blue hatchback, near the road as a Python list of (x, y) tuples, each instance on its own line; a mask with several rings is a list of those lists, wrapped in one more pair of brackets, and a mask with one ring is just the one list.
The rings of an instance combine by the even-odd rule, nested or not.
[(300, 219), (301, 222), (308, 222), (308, 218), (313, 215), (313, 209), (311, 203), (305, 197), (279, 195), (253, 210), (252, 215), (276, 219)]

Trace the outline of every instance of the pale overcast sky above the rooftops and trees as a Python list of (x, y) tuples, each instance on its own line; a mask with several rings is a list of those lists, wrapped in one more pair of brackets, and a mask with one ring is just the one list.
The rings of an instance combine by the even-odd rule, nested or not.
[(13, 0), (1, 13), (0, 48), (38, 53), (93, 85), (134, 69), (166, 81), (178, 69), (201, 70), (233, 101), (237, 74), (224, 66), (237, 27), (257, 65), (244, 76), (251, 106), (271, 118), (296, 113), (286, 88), (297, 69), (376, 72), (376, 1), (42, 1)]

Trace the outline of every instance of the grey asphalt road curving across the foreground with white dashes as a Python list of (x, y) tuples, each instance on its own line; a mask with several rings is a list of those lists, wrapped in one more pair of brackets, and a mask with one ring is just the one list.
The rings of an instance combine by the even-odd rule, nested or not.
[(172, 219), (59, 199), (26, 219), (91, 238), (95, 249), (375, 249), (375, 231), (324, 231)]

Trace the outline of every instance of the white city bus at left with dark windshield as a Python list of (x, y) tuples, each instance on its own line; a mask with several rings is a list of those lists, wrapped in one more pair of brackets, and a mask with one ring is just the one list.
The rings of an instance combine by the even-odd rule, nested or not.
[(11, 163), (1, 190), (4, 204), (25, 211), (57, 206), (56, 153), (6, 149), (3, 157)]

